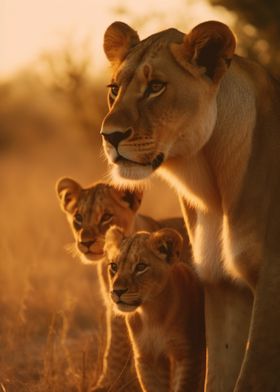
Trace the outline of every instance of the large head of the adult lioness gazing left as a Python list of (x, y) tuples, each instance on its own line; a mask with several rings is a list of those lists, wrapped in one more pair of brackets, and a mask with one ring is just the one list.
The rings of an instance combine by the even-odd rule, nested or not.
[(216, 122), (216, 95), (235, 49), (230, 29), (205, 22), (140, 41), (115, 22), (104, 36), (112, 65), (101, 134), (113, 178), (142, 180), (177, 156), (196, 154)]

